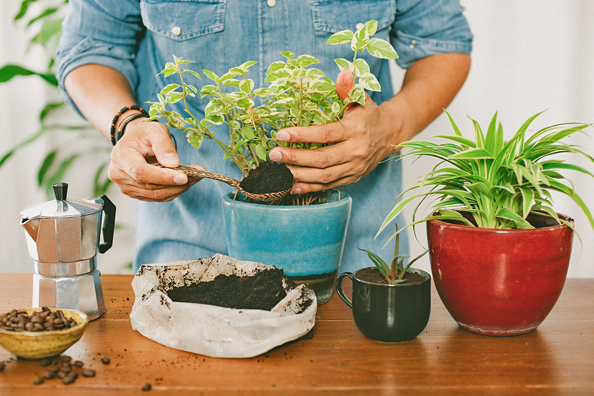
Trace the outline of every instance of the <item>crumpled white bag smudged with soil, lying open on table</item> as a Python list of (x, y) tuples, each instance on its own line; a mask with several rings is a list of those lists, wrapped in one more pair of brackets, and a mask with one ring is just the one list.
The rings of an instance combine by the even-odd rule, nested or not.
[[(211, 357), (252, 357), (307, 334), (315, 324), (314, 292), (300, 284), (271, 311), (173, 302), (173, 286), (207, 282), (219, 274), (253, 275), (266, 264), (214, 256), (142, 265), (132, 280), (132, 329), (165, 346)], [(302, 309), (304, 302), (311, 300)], [(302, 312), (299, 312), (302, 311)]]

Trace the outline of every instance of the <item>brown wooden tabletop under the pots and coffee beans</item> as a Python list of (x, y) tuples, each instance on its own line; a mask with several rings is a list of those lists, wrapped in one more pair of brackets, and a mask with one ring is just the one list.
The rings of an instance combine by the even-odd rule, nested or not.
[[(32, 278), (0, 274), (0, 312), (31, 305)], [(102, 276), (107, 312), (65, 352), (96, 377), (33, 385), (45, 368), (0, 348), (0, 362), (10, 360), (0, 395), (594, 395), (594, 279), (567, 280), (542, 325), (516, 337), (461, 330), (433, 290), (426, 329), (396, 344), (365, 338), (335, 294), (319, 307), (311, 339), (251, 359), (178, 351), (133, 331), (131, 280)], [(102, 356), (111, 363), (100, 363)], [(141, 392), (145, 382), (150, 392)]]

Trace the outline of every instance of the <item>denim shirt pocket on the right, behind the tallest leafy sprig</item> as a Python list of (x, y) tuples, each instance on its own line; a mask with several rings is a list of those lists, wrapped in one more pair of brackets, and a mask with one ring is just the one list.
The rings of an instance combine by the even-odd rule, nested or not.
[[(396, 18), (396, 0), (310, 0), (314, 24), (314, 56), (318, 59), (345, 58), (351, 60), (353, 51), (347, 43), (328, 45), (331, 34), (341, 30), (356, 31), (360, 24), (370, 20), (377, 21), (374, 37), (387, 39), (391, 25)], [(381, 59), (368, 52), (358, 55), (369, 64), (371, 72), (379, 72)], [(328, 77), (334, 80), (337, 69)]]

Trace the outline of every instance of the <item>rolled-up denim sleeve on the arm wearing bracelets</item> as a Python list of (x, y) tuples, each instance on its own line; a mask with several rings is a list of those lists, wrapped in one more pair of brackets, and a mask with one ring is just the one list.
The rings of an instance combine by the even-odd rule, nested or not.
[(64, 78), (86, 64), (116, 69), (134, 88), (138, 82), (134, 57), (143, 31), (138, 0), (70, 0), (56, 52), (61, 99), (78, 112), (64, 89)]

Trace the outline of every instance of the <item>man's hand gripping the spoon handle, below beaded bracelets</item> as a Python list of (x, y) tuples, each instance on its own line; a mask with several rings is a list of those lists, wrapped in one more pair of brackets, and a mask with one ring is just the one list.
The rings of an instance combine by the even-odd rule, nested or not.
[[(134, 122), (134, 123), (132, 123)], [(132, 121), (113, 148), (108, 176), (120, 191), (141, 201), (171, 201), (201, 178), (191, 178), (176, 170), (156, 167), (179, 166), (179, 157), (169, 129), (159, 122)], [(199, 165), (193, 167), (204, 169)]]

